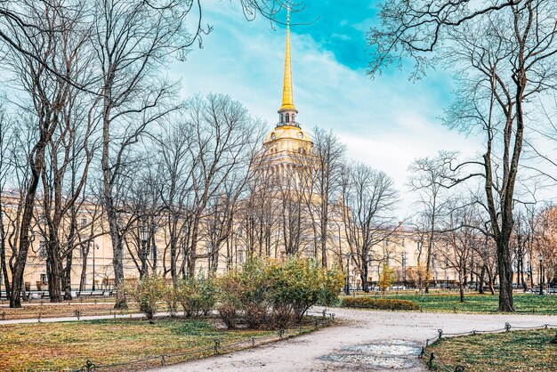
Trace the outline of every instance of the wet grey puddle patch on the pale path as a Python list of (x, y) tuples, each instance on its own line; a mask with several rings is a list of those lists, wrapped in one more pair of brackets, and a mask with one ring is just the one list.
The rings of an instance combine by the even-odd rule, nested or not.
[(354, 368), (388, 368), (402, 369), (415, 368), (420, 363), (417, 356), (420, 346), (416, 343), (390, 340), (377, 344), (360, 344), (347, 346), (338, 352), (323, 355), (320, 360), (333, 361), (350, 365)]

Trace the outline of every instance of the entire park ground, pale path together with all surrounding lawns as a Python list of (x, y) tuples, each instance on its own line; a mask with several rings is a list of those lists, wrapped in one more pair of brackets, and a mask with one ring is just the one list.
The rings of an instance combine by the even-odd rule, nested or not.
[[(445, 334), (492, 330), (504, 328), (509, 322), (513, 327), (533, 327), (557, 324), (557, 296), (515, 296), (517, 314), (496, 313), (497, 296), (466, 295), (466, 302), (459, 303), (458, 295), (433, 293), (430, 295), (392, 294), (386, 298), (415, 301), (419, 311), (367, 311), (343, 308), (329, 309), (335, 312), (333, 327), (311, 334), (296, 336), (274, 344), (257, 342), (261, 345), (251, 350), (252, 338), (278, 340), (275, 331), (226, 331), (214, 327), (211, 320), (157, 319), (155, 324), (141, 320), (141, 314), (110, 315), (111, 319), (87, 317), (95, 311), (105, 318), (109, 303), (69, 303), (64, 305), (34, 304), (20, 310), (8, 311), (0, 321), (0, 370), (63, 370), (81, 368), (86, 360), (98, 365), (125, 362), (149, 355), (183, 352), (196, 348), (210, 348), (215, 339), (222, 344), (245, 344), (232, 350), (224, 350), (222, 356), (211, 356), (198, 360), (213, 352), (192, 356), (168, 358), (165, 362), (180, 363), (163, 368), (162, 371), (180, 370), (404, 370), (424, 371), (424, 362), (417, 358), (425, 339)], [(64, 309), (62, 309), (64, 306)], [(74, 311), (83, 311), (77, 322)], [(6, 311), (4, 307), (0, 312)], [(15, 312), (13, 312), (15, 311)], [(18, 313), (17, 311), (20, 311)], [(41, 324), (36, 322), (36, 313), (42, 314)], [(133, 311), (132, 311), (133, 312)], [(455, 312), (457, 314), (455, 314)], [(52, 319), (48, 319), (52, 314)], [(116, 316), (120, 319), (114, 319)], [(57, 318), (66, 317), (66, 318)], [(137, 318), (136, 318), (137, 317)], [(28, 319), (21, 319), (28, 318)], [(125, 319), (124, 319), (125, 318)], [(84, 321), (85, 319), (85, 321)], [(60, 320), (64, 320), (61, 322)], [(53, 323), (50, 323), (50, 322)], [(308, 331), (310, 330), (308, 327)], [(293, 333), (294, 334), (294, 333)], [(505, 337), (515, 338), (505, 338)], [(539, 365), (530, 363), (520, 366), (521, 370), (557, 370), (555, 344), (547, 340), (554, 330), (510, 332), (505, 335), (474, 336), (475, 338), (443, 339), (434, 344), (432, 350), (444, 362), (459, 364), (466, 371), (511, 371), (502, 366), (519, 366), (522, 360), (538, 360)], [(499, 338), (497, 338), (499, 337)], [(264, 345), (262, 345), (264, 344)], [(505, 344), (505, 358), (496, 360)], [(531, 345), (521, 348), (521, 345)], [(555, 350), (548, 350), (553, 348)], [(531, 349), (531, 350), (530, 350)], [(526, 353), (526, 354), (525, 354)], [(527, 358), (524, 358), (524, 355)], [(482, 356), (484, 359), (482, 360)], [(191, 360), (197, 359), (197, 360)], [(184, 363), (184, 360), (191, 360)], [(487, 363), (491, 363), (490, 367)], [(498, 364), (497, 364), (498, 363)], [(514, 364), (513, 364), (514, 363)], [(451, 364), (451, 365), (452, 365)], [(161, 360), (134, 365), (134, 368), (154, 368)], [(479, 366), (484, 366), (483, 368)], [(537, 368), (529, 368), (538, 366)], [(549, 367), (547, 367), (549, 366)], [(38, 369), (37, 369), (38, 368)], [(108, 368), (114, 370), (115, 368)], [(99, 370), (104, 370), (99, 368)], [(129, 369), (126, 369), (129, 370)]]

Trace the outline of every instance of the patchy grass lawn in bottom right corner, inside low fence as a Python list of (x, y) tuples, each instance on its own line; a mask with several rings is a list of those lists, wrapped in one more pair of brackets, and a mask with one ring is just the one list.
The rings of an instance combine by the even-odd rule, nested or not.
[(466, 372), (557, 370), (555, 329), (521, 330), (490, 335), (447, 337), (428, 348), (445, 366)]

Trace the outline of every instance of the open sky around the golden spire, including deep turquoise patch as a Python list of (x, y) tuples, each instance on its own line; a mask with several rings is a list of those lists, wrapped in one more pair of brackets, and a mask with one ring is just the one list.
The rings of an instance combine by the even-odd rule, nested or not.
[[(449, 131), (439, 117), (453, 89), (445, 71), (431, 71), (417, 83), (410, 70), (390, 69), (375, 80), (366, 76), (369, 50), (366, 30), (376, 22), (373, 2), (307, 1), (292, 15), (292, 69), (295, 106), (303, 129), (333, 129), (348, 145), (349, 156), (385, 171), (402, 191), (400, 218), (411, 199), (404, 195), (407, 168), (414, 158), (438, 150), (474, 155), (480, 143)], [(182, 97), (228, 93), (250, 113), (278, 121), (282, 92), (285, 28), (257, 17), (248, 22), (237, 1), (205, 3), (203, 49), (188, 61), (175, 62), (170, 75), (182, 79)]]

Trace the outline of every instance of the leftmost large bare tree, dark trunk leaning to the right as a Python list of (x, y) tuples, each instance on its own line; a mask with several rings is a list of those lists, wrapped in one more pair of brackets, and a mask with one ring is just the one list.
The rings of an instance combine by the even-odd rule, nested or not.
[[(23, 271), (30, 245), (29, 231), (37, 188), (44, 177), (45, 153), (52, 142), (52, 136), (61, 128), (64, 110), (69, 107), (71, 101), (69, 90), (72, 85), (69, 84), (68, 79), (61, 76), (81, 74), (81, 70), (77, 70), (81, 67), (76, 67), (77, 54), (79, 54), (77, 50), (81, 48), (84, 40), (83, 32), (77, 26), (82, 17), (81, 13), (61, 12), (56, 4), (42, 5), (44, 7), (28, 7), (26, 16), (35, 20), (36, 24), (40, 24), (43, 30), (32, 35), (25, 34), (21, 38), (16, 36), (18, 44), (25, 45), (27, 50), (33, 50), (34, 53), (9, 55), (12, 71), (20, 79), (20, 85), (29, 95), (28, 118), (38, 122), (38, 125), (28, 126), (29, 129), (33, 128), (36, 131), (36, 140), (28, 157), (30, 174), (21, 214), (19, 248), (12, 271), (10, 303), (12, 307), (20, 307)], [(63, 32), (60, 31), (61, 29)], [(70, 40), (77, 43), (72, 43)], [(50, 66), (48, 69), (47, 64)], [(61, 72), (54, 73), (55, 70)]]

